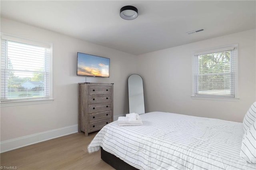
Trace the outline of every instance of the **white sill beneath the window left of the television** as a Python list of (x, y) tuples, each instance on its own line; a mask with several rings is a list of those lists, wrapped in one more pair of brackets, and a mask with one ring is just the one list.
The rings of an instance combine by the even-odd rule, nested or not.
[(20, 106), (20, 105), (38, 105), (52, 103), (54, 99), (37, 99), (30, 101), (5, 101), (0, 103), (0, 107)]

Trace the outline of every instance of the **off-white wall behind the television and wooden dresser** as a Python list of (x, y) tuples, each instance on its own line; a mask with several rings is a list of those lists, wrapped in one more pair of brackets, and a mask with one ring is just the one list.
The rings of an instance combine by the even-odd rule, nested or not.
[[(136, 73), (136, 56), (1, 18), (1, 32), (53, 43), (53, 96), (48, 104), (1, 107), (1, 141), (77, 125), (77, 52), (110, 58), (110, 78), (87, 82), (114, 83), (114, 116), (128, 113), (128, 76)], [(77, 129), (76, 129), (77, 130)]]

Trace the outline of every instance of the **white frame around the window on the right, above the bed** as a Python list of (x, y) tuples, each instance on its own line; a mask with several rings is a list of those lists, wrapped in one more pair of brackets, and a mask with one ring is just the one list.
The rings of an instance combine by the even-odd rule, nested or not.
[[(234, 63), (234, 97), (230, 96), (225, 96), (225, 95), (206, 95), (206, 94), (196, 94), (196, 57), (197, 55), (202, 55), (202, 54), (208, 54), (208, 53), (216, 53), (216, 52), (221, 52), (221, 51), (226, 51), (229, 49), (234, 50), (235, 55), (232, 56), (234, 57), (233, 61)], [(204, 49), (200, 51), (194, 51), (193, 52), (193, 61), (192, 61), (192, 99), (203, 99), (203, 100), (218, 100), (218, 101), (239, 101), (239, 94), (238, 94), (238, 44), (232, 44), (232, 45), (226, 45), (226, 46), (221, 46), (221, 47), (215, 47), (215, 48), (210, 48), (210, 49)]]

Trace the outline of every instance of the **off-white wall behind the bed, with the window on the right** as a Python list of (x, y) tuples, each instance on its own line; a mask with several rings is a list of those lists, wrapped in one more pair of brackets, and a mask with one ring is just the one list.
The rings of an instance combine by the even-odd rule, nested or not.
[[(200, 34), (200, 33), (199, 33)], [(146, 112), (164, 111), (242, 122), (256, 100), (255, 30), (181, 45), (138, 56)], [(193, 51), (238, 43), (240, 100), (191, 99)]]

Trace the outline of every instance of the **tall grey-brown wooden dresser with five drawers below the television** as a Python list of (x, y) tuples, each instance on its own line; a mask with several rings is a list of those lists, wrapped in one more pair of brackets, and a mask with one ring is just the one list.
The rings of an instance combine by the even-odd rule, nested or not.
[(78, 132), (100, 130), (113, 121), (113, 83), (78, 83)]

